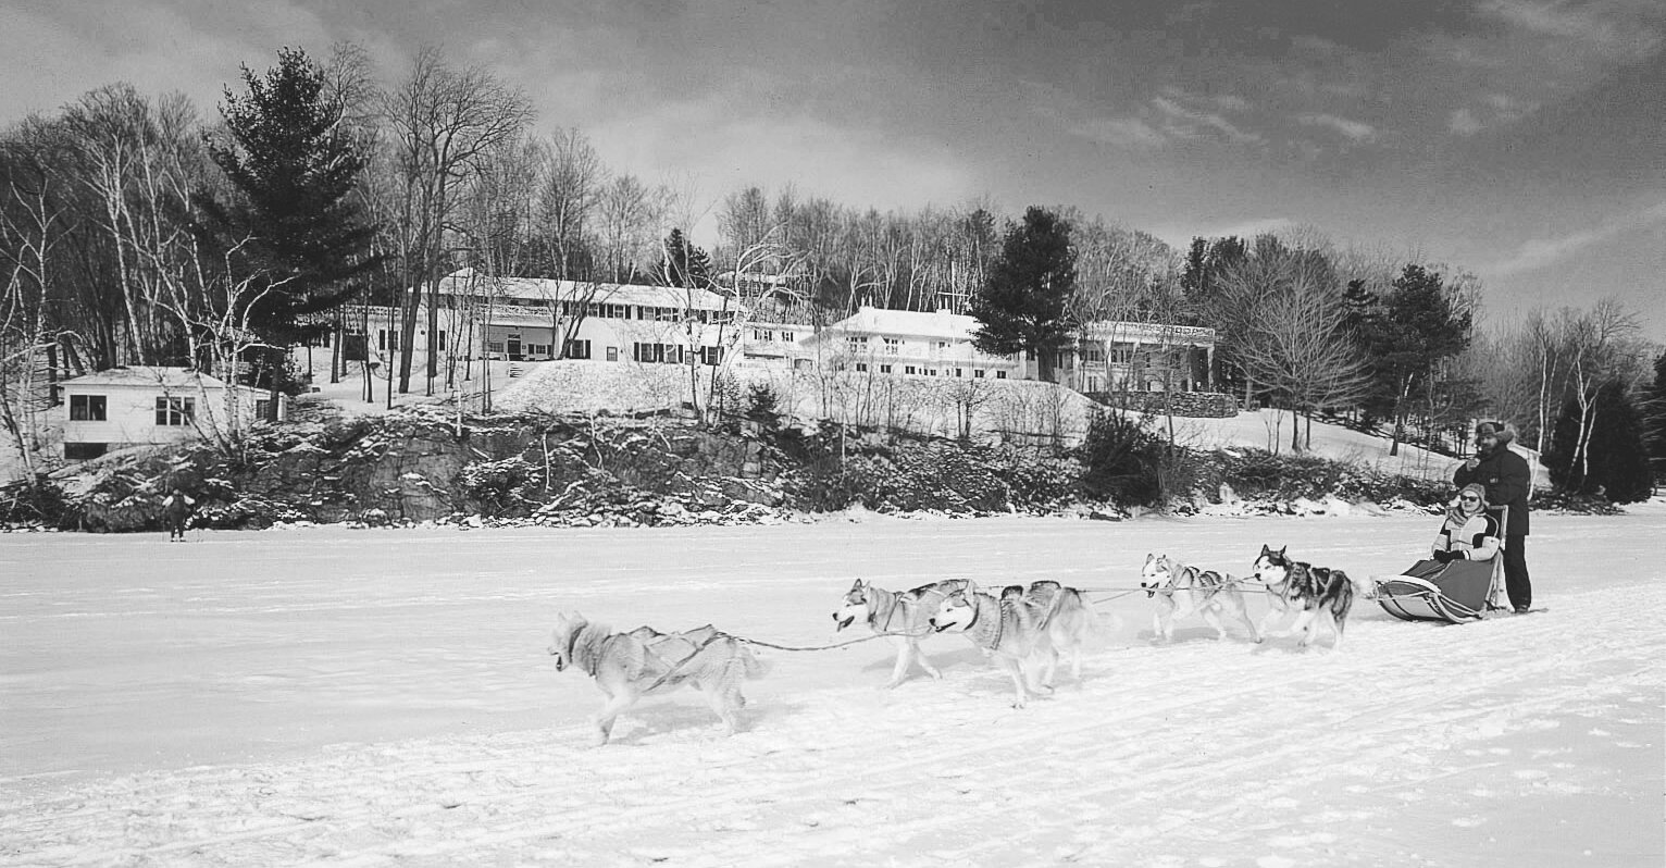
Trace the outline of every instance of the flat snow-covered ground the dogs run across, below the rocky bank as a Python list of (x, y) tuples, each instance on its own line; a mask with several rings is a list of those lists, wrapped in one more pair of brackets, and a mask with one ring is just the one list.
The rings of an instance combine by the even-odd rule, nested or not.
[[(1341, 651), (1196, 621), (1153, 645), (1110, 593), (1150, 550), (1241, 570), (1263, 541), (1391, 573), (1436, 525), (5, 535), (0, 863), (1661, 865), (1659, 505), (1534, 516), (1544, 613), (1359, 601)], [(545, 651), (570, 608), (820, 645), (855, 576), (1060, 578), (1121, 625), (1026, 710), (958, 636), (896, 690), (883, 641), (763, 650), (740, 735), (683, 691), (605, 748)]]

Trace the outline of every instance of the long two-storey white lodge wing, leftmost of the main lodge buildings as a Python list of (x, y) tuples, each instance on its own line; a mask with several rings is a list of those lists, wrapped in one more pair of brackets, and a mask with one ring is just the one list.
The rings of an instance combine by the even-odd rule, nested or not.
[[(708, 290), (491, 278), (463, 268), (440, 280), (435, 338), (443, 355), (456, 358), (678, 363), (698, 353), (703, 363), (718, 365), (738, 340), (735, 315), (730, 298)], [(347, 333), (363, 333), (372, 358), (398, 355), (395, 310), (360, 308), (347, 317)], [(428, 345), (425, 305), (416, 312), (415, 355), (425, 358)]]

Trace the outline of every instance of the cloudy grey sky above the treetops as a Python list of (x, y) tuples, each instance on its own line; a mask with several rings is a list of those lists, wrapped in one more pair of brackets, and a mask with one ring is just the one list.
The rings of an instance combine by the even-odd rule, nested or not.
[(0, 122), (113, 80), (208, 113), (340, 40), (485, 63), (708, 202), (1311, 225), (1474, 272), (1494, 322), (1613, 295), (1666, 342), (1661, 0), (5, 0)]

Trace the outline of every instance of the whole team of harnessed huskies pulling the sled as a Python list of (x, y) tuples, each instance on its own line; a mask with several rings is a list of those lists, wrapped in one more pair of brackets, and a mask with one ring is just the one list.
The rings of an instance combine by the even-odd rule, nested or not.
[[(1156, 603), (1153, 635), (1173, 640), (1175, 621), (1198, 615), (1215, 628), (1216, 638), (1226, 638), (1225, 616), (1243, 623), (1251, 641), (1301, 633), (1298, 645), (1304, 648), (1324, 626), (1333, 646), (1339, 648), (1353, 606), (1353, 583), (1341, 570), (1291, 560), (1286, 548), (1263, 545), (1254, 560), (1254, 590), (1264, 591), (1271, 601), (1259, 625), (1250, 620), (1243, 591), (1246, 581), (1166, 555), (1148, 555), (1140, 571), (1140, 590)], [(1274, 620), (1289, 613), (1296, 615), (1289, 630), (1268, 633)], [(1053, 691), (1063, 656), (1070, 658), (1071, 676), (1080, 680), (1081, 653), (1103, 630), (1081, 590), (1058, 581), (1035, 581), (1028, 588), (1010, 585), (1000, 593), (988, 593), (961, 578), (906, 591), (885, 590), (858, 578), (833, 611), (833, 630), (838, 633), (856, 621), (896, 645), (896, 665), (886, 686), (900, 685), (911, 663), (931, 678), (941, 678), (943, 673), (920, 648), (920, 640), (935, 633), (960, 633), (1011, 678), (1013, 708)], [(683, 633), (660, 633), (648, 626), (613, 633), (576, 611), (556, 615), (550, 655), (556, 671), (576, 668), (593, 676), (606, 695), (596, 715), (598, 743), (608, 741), (613, 721), (641, 696), (683, 685), (705, 693), (723, 730), (733, 735), (746, 705), (743, 681), (765, 673), (746, 640), (711, 625)]]

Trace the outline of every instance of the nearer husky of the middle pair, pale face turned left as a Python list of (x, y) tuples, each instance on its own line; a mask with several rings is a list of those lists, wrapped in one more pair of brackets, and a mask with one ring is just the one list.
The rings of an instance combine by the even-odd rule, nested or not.
[[(1013, 593), (1016, 588), (1016, 593)], [(1051, 693), (1050, 686), (1038, 686), (1031, 680), (1031, 670), (1038, 660), (1045, 660), (1053, 651), (1048, 641), (1046, 625), (1041, 613), (1025, 600), (1023, 588), (1006, 588), (1001, 598), (978, 591), (976, 585), (950, 591), (943, 605), (931, 615), (931, 628), (938, 633), (955, 630), (963, 633), (985, 656), (996, 663), (1013, 680), (1016, 698), (1013, 708), (1023, 708), (1031, 695)]]

